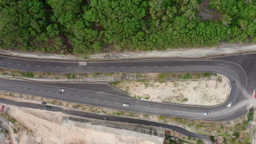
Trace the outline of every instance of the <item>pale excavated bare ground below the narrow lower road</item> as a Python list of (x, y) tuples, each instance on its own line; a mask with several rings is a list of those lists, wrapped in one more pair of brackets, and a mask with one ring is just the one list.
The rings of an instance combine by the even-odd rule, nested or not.
[[(23, 124), (30, 131), (20, 131), (18, 144), (155, 144), (148, 137), (162, 137), (141, 134), (102, 125), (92, 125), (77, 121), (63, 121), (61, 112), (50, 112), (31, 108), (10, 107), (9, 115)], [(147, 138), (144, 138), (147, 137)]]

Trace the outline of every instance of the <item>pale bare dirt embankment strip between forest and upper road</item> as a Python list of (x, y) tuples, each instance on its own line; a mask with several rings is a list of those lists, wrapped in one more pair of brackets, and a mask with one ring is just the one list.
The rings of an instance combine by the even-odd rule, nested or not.
[(93, 54), (90, 56), (59, 55), (37, 52), (18, 52), (0, 50), (0, 54), (9, 56), (20, 56), (34, 59), (62, 59), (62, 60), (106, 60), (106, 59), (138, 59), (138, 58), (202, 58), (209, 56), (232, 55), (240, 52), (255, 52), (256, 45), (245, 45), (243, 43), (222, 43), (215, 47), (190, 48), (190, 49), (167, 49), (162, 51), (124, 51)]

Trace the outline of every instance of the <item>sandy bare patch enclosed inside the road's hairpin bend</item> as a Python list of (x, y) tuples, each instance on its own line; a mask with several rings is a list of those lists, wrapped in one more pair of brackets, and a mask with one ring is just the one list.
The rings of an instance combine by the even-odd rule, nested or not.
[(186, 105), (218, 105), (225, 101), (230, 93), (229, 82), (220, 76), (211, 76), (207, 80), (164, 83), (150, 80), (147, 82), (123, 81), (117, 87), (132, 97)]

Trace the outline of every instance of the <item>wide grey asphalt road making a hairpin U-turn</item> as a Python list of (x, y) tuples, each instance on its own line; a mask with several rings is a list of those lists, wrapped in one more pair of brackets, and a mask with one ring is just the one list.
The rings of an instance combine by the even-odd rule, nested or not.
[[(33, 72), (215, 72), (231, 82), (229, 99), (216, 107), (164, 104), (129, 98), (125, 93), (105, 84), (38, 83), (0, 80), (0, 89), (55, 98), (87, 105), (212, 121), (226, 121), (244, 115), (248, 99), (255, 88), (256, 54), (227, 56), (203, 60), (149, 60), (126, 62), (61, 62), (0, 56), (0, 67)], [(233, 83), (234, 81), (234, 83)], [(66, 88), (58, 94), (59, 88)], [(226, 105), (233, 102), (228, 108)], [(122, 106), (130, 104), (129, 107)], [(151, 104), (151, 106), (149, 106)], [(203, 115), (203, 112), (210, 115)]]

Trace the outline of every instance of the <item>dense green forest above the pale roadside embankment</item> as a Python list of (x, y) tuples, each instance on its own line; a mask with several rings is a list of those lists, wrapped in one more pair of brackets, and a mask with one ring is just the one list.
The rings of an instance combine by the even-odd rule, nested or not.
[(0, 0), (1, 49), (88, 55), (221, 42), (256, 42), (256, 0)]

